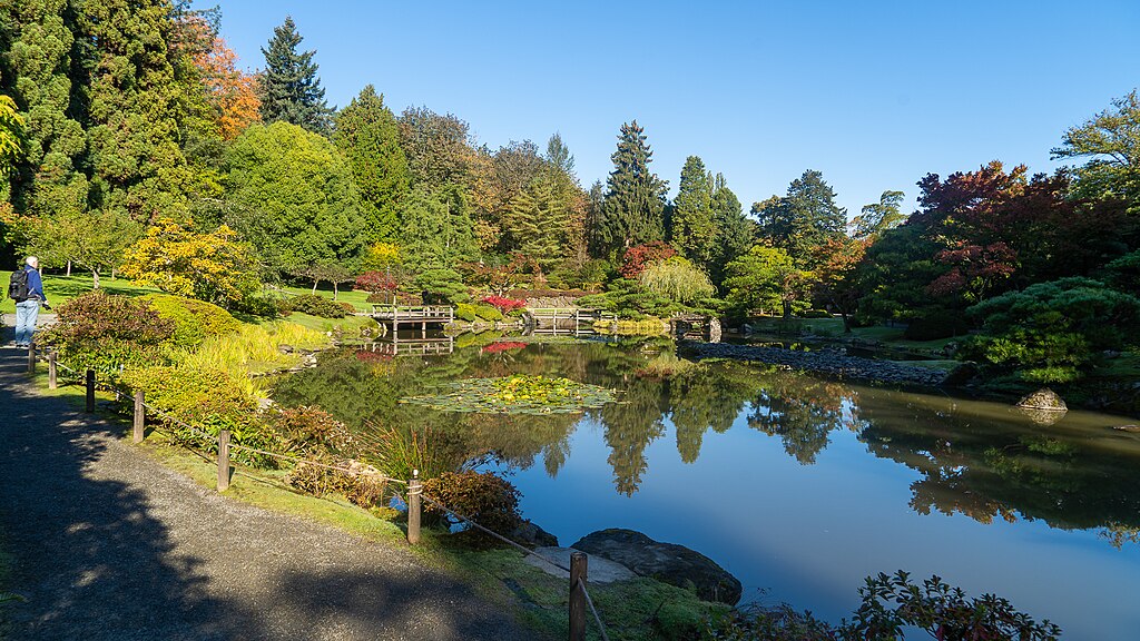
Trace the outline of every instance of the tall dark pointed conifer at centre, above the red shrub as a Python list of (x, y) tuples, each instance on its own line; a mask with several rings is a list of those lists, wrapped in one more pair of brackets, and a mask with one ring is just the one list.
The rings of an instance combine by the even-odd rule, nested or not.
[(602, 253), (665, 240), (668, 182), (650, 171), (653, 152), (636, 120), (621, 125), (618, 151), (610, 157), (613, 171), (595, 232)]

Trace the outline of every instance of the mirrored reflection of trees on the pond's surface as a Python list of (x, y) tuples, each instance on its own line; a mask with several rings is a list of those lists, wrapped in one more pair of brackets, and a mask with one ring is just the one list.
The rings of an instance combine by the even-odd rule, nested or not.
[[(464, 340), (467, 344), (464, 344)], [(474, 341), (474, 342), (472, 342)], [(398, 404), (448, 381), (514, 373), (567, 376), (621, 390), (589, 415), (487, 415)], [(462, 338), (454, 354), (391, 357), (367, 350), (325, 355), (320, 366), (280, 381), (278, 401), (315, 404), (349, 425), (447, 430), (457, 457), (491, 456), (556, 477), (571, 436), (597, 424), (613, 488), (638, 492), (646, 449), (673, 428), (683, 464), (698, 464), (706, 435), (741, 424), (776, 438), (813, 465), (836, 430), (868, 452), (918, 472), (910, 506), (983, 524), (1040, 519), (1062, 529), (1099, 529), (1115, 545), (1140, 532), (1140, 437), (1110, 430), (1109, 416), (1070, 412), (1041, 427), (991, 403), (903, 393), (824, 381), (735, 362), (691, 363), (662, 339), (624, 343), (488, 342)], [(523, 488), (526, 492), (526, 488)]]

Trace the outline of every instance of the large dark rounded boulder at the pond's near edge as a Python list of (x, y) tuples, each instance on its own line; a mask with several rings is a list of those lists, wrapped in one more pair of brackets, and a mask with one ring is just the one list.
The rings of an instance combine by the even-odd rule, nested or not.
[(693, 587), (706, 601), (730, 606), (740, 601), (740, 581), (712, 559), (684, 545), (660, 543), (632, 529), (611, 528), (588, 534), (571, 547), (621, 563), (662, 583)]

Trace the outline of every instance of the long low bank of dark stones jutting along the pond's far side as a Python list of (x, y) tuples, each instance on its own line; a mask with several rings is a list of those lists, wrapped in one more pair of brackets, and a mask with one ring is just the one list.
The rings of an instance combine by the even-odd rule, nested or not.
[(946, 379), (945, 372), (903, 365), (891, 360), (878, 360), (847, 356), (838, 350), (795, 351), (776, 347), (760, 347), (731, 343), (687, 342), (684, 349), (695, 358), (733, 358), (785, 365), (793, 370), (816, 372), (841, 379), (877, 381), (891, 384), (917, 384), (937, 387)]

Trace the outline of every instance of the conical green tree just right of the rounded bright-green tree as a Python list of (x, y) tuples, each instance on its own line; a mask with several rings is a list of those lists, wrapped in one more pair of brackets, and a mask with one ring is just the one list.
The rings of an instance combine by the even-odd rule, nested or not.
[(396, 116), (372, 84), (336, 114), (333, 141), (348, 159), (360, 189), (369, 243), (394, 240), (399, 233), (397, 212), (412, 176)]

